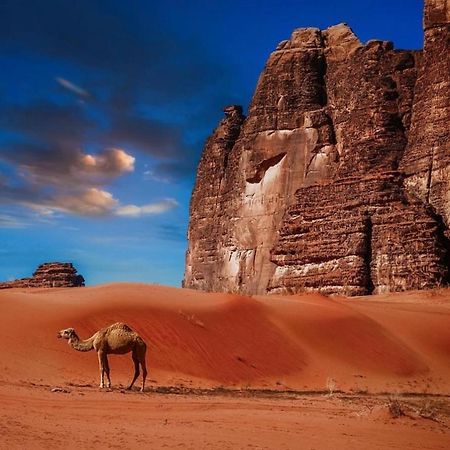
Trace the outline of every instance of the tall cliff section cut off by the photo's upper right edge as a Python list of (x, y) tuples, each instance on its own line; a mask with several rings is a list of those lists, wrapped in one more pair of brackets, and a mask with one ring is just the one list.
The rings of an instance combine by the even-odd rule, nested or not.
[(442, 216), (450, 237), (450, 2), (428, 0), (410, 139), (401, 163), (409, 191)]

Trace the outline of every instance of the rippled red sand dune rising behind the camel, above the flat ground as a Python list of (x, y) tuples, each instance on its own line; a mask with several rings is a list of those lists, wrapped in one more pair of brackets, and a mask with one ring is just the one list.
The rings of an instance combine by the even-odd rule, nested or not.
[[(189, 386), (450, 392), (450, 291), (247, 298), (144, 284), (0, 292), (0, 380), (96, 384), (82, 338), (117, 321), (149, 346), (150, 380)], [(113, 384), (132, 374), (112, 356)]]

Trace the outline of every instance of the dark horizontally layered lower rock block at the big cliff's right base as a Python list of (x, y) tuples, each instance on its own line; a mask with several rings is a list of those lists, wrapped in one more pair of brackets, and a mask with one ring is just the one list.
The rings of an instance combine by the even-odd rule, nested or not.
[(277, 267), (268, 291), (366, 295), (434, 287), (447, 272), (445, 245), (433, 212), (406, 197), (397, 172), (303, 188), (272, 251)]

